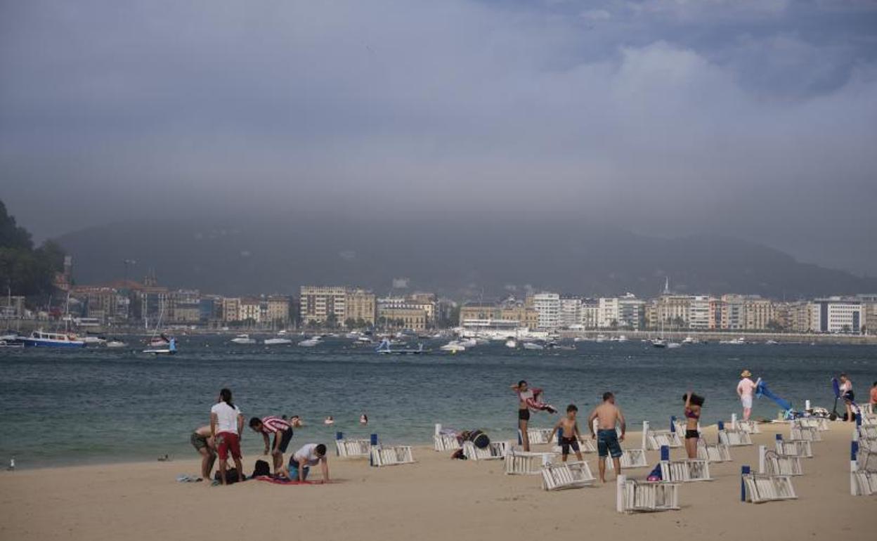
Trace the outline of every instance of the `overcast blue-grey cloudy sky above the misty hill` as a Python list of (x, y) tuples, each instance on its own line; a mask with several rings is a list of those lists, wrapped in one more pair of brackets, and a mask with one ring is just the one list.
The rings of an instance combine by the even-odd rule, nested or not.
[(0, 199), (39, 238), (569, 216), (873, 275), (877, 2), (0, 1)]

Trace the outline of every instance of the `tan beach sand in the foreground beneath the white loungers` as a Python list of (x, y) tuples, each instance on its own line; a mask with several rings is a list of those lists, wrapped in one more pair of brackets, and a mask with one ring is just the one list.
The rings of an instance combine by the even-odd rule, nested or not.
[[(545, 492), (538, 476), (503, 474), (501, 461), (460, 461), (415, 450), (417, 464), (372, 468), (362, 459), (330, 459), (329, 485), (278, 486), (247, 481), (226, 488), (178, 483), (192, 460), (73, 466), (0, 473), (0, 539), (692, 539), (868, 538), (877, 496), (850, 495), (852, 424), (833, 424), (814, 444), (799, 499), (740, 502), (740, 466), (758, 465), (757, 445), (778, 431), (761, 425), (756, 445), (734, 447), (733, 462), (711, 465), (716, 480), (681, 487), (678, 511), (622, 515), (615, 483)], [(707, 429), (715, 441), (715, 427)], [(638, 434), (629, 434), (638, 446)], [(303, 442), (295, 442), (301, 445)], [(673, 457), (684, 451), (674, 449)], [(649, 461), (658, 460), (649, 452)], [(252, 471), (258, 456), (245, 457)], [(596, 457), (586, 455), (596, 474)], [(315, 472), (316, 473), (316, 472)], [(647, 470), (630, 470), (644, 478)], [(317, 475), (318, 477), (318, 475)], [(852, 537), (851, 537), (852, 536)]]

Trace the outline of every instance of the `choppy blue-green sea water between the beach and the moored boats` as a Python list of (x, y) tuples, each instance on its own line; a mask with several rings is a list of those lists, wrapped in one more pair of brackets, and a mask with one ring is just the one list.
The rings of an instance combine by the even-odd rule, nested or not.
[[(802, 408), (832, 408), (831, 377), (850, 375), (859, 400), (877, 380), (877, 348), (863, 345), (684, 345), (656, 349), (642, 342), (581, 342), (574, 351), (512, 350), (503, 342), (456, 354), (427, 343), (427, 355), (378, 355), (367, 345), (327, 339), (313, 348), (233, 345), (230, 337), (178, 339), (175, 356), (130, 349), (0, 350), (0, 461), (19, 467), (89, 462), (196, 458), (189, 435), (210, 423), (220, 388), (232, 388), (246, 416), (299, 415), (291, 447), (324, 442), (336, 431), (383, 442), (430, 444), (434, 424), (481, 428), (513, 438), (519, 380), (545, 389), (562, 412), (568, 403), (582, 419), (604, 391), (617, 395), (631, 431), (643, 420), (668, 428), (682, 415), (681, 396), (706, 397), (702, 424), (740, 411), (736, 386), (748, 368), (771, 390)], [(778, 406), (755, 401), (754, 416), (774, 418)], [(838, 405), (843, 410), (843, 404)], [(362, 413), (368, 425), (359, 423)], [(333, 416), (335, 424), (323, 420)], [(531, 426), (557, 416), (534, 413)], [(584, 423), (581, 430), (587, 431)], [(262, 439), (245, 428), (245, 455), (261, 453)]]

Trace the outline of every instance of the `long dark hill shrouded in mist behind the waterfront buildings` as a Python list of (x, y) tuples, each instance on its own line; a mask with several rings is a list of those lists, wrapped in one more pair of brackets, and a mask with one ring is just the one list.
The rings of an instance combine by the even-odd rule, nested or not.
[(735, 238), (650, 238), (578, 221), (345, 221), (331, 215), (225, 223), (132, 222), (58, 238), (78, 283), (154, 269), (162, 285), (228, 295), (351, 284), (385, 294), (394, 278), (460, 299), (545, 288), (580, 295), (740, 292), (795, 299), (877, 291), (862, 278)]

